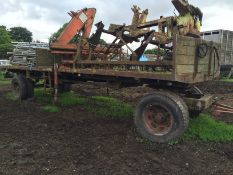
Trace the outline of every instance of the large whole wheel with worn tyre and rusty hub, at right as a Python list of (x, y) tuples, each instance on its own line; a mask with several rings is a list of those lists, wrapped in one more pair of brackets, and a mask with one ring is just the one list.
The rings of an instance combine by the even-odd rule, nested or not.
[(134, 119), (138, 132), (144, 138), (165, 143), (184, 133), (189, 123), (189, 112), (179, 96), (159, 92), (141, 99)]

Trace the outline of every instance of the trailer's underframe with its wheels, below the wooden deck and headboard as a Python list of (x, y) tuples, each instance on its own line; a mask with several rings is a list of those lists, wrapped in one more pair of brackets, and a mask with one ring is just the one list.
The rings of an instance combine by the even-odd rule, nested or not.
[(162, 79), (124, 76), (121, 74), (97, 74), (81, 72), (80, 69), (64, 69), (54, 64), (48, 68), (8, 67), (9, 72), (17, 76), (13, 79), (13, 89), (22, 100), (33, 96), (34, 84), (44, 80), (44, 88), (54, 92), (56, 101), (58, 92), (69, 90), (71, 84), (80, 81), (115, 82), (121, 87), (141, 86), (147, 84), (155, 89), (151, 94), (141, 98), (135, 107), (134, 121), (138, 132), (145, 138), (159, 143), (179, 138), (189, 123), (190, 111), (201, 112), (211, 107), (214, 97), (204, 95), (194, 85), (174, 82), (166, 75)]

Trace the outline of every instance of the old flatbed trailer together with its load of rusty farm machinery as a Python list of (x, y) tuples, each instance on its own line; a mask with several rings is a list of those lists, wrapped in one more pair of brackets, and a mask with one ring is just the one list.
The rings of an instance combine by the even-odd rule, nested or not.
[[(71, 11), (71, 20), (50, 49), (36, 50), (36, 65), (6, 67), (16, 73), (12, 80), (18, 99), (33, 97), (37, 82), (44, 80), (57, 99), (79, 81), (117, 83), (121, 87), (147, 84), (154, 88), (138, 102), (134, 122), (138, 132), (154, 142), (179, 138), (189, 123), (190, 112), (200, 112), (214, 103), (214, 97), (203, 94), (196, 83), (212, 81), (219, 76), (219, 45), (200, 39), (201, 10), (183, 0), (172, 0), (178, 16), (147, 21), (148, 9), (133, 6), (131, 25), (96, 24), (90, 36), (95, 8)], [(102, 33), (115, 37), (111, 44), (101, 45)], [(78, 42), (72, 38), (79, 35)], [(188, 37), (189, 36), (189, 37)], [(138, 42), (134, 50), (130, 43)], [(140, 61), (147, 46), (157, 49), (155, 59)], [(131, 55), (125, 54), (127, 47)], [(216, 105), (216, 112), (232, 108)]]

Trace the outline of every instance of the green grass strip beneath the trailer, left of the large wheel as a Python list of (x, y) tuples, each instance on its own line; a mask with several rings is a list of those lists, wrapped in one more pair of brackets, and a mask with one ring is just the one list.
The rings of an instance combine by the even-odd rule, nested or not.
[[(42, 104), (51, 104), (53, 95), (43, 89), (35, 90), (35, 99)], [(63, 93), (58, 97), (58, 106), (80, 105), (86, 111), (101, 117), (127, 118), (133, 116), (133, 107), (110, 97), (81, 97), (74, 92)]]

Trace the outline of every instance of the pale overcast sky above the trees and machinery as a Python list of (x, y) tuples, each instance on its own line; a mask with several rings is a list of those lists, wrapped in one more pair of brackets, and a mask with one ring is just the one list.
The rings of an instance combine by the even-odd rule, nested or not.
[[(47, 41), (61, 25), (70, 20), (67, 12), (84, 7), (95, 7), (95, 23), (103, 21), (106, 28), (110, 23), (129, 24), (131, 7), (139, 5), (149, 9), (149, 19), (172, 16), (171, 0), (0, 0), (0, 25), (7, 28), (26, 27), (33, 32), (34, 40)], [(202, 30), (233, 30), (232, 0), (189, 0), (204, 13)], [(95, 29), (94, 29), (95, 30)], [(106, 38), (107, 39), (107, 38)]]

